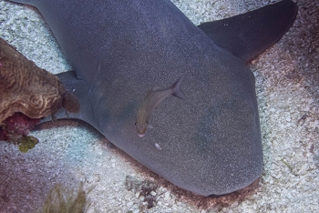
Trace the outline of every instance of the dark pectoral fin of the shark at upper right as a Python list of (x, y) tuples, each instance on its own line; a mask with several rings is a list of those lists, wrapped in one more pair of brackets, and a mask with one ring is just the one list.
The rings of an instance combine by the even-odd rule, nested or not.
[(211, 40), (243, 61), (277, 42), (293, 24), (297, 5), (283, 0), (251, 12), (199, 25)]

